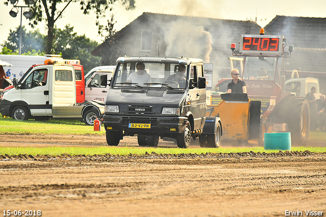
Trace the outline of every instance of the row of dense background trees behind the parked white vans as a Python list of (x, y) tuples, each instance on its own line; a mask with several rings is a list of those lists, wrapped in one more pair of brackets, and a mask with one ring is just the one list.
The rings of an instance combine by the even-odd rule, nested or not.
[[(25, 26), (22, 26), (21, 32), (22, 55), (43, 56), (47, 36), (42, 35), (38, 29), (27, 32)], [(14, 31), (10, 30), (7, 41), (2, 44), (2, 54), (18, 55), (19, 34), (19, 27)], [(60, 54), (64, 59), (80, 60), (85, 72), (100, 65), (100, 57), (94, 57), (91, 54), (91, 51), (98, 46), (98, 43), (85, 35), (78, 36), (77, 33), (73, 32), (73, 27), (70, 25), (66, 25), (63, 30), (55, 29), (54, 39), (53, 52)]]

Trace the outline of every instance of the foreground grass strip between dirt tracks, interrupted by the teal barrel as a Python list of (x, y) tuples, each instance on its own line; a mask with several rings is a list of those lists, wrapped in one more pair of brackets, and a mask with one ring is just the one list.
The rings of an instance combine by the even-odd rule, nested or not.
[[(310, 152), (325, 152), (326, 147), (293, 147), (291, 151), (310, 151)], [(87, 148), (79, 148), (79, 147), (0, 147), (0, 155), (8, 154), (19, 155), (19, 154), (27, 154), (27, 155), (53, 155), (57, 156), (60, 154), (70, 154), (70, 155), (128, 155), (128, 154), (138, 154), (145, 155), (147, 153), (155, 152), (156, 154), (202, 154), (202, 153), (241, 153), (241, 152), (279, 152), (279, 150), (265, 150), (263, 147), (252, 147), (252, 148), (160, 148), (160, 147), (87, 147)]]

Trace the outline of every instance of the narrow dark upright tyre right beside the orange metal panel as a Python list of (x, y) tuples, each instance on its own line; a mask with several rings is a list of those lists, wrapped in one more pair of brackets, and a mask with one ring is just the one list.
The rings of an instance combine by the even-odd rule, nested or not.
[(249, 140), (259, 139), (260, 107), (261, 107), (261, 101), (250, 101), (249, 128), (248, 128)]

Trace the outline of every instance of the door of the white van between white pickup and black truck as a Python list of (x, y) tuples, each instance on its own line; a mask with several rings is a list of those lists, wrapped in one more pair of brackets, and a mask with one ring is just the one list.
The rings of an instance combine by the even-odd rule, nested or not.
[[(87, 101), (99, 100), (103, 101), (106, 99), (107, 89), (109, 86), (101, 86), (101, 74), (103, 73), (94, 73), (93, 76), (87, 81), (87, 86), (85, 87), (85, 99)], [(110, 79), (110, 74), (108, 73), (107, 79)]]

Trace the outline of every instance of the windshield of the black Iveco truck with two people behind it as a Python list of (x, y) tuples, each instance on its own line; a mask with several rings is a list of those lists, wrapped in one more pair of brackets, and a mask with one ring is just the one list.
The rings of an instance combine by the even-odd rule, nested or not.
[(185, 89), (187, 65), (176, 63), (119, 63), (111, 87)]

